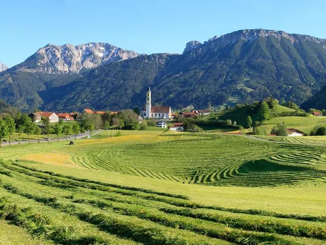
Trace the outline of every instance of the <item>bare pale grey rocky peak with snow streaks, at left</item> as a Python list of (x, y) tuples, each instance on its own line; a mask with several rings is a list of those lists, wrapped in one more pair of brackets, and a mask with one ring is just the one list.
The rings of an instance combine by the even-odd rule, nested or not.
[(79, 73), (102, 64), (139, 56), (134, 51), (124, 50), (108, 43), (90, 42), (72, 44), (47, 44), (25, 60), (20, 70), (46, 72), (48, 74)]

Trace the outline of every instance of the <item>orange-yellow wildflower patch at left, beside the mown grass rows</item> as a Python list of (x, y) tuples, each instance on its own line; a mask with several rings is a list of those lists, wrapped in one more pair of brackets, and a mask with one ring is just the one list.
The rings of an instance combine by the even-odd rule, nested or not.
[(70, 159), (68, 154), (63, 153), (39, 153), (20, 158), (22, 160), (35, 161), (55, 166), (83, 168)]

